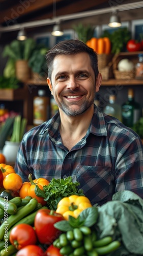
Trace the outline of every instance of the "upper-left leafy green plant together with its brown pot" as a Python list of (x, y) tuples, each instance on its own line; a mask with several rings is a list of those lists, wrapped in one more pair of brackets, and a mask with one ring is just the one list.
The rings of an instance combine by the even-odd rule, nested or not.
[[(25, 81), (30, 78), (31, 72), (40, 73), (44, 65), (47, 49), (43, 45), (37, 45), (33, 38), (28, 38), (24, 41), (13, 40), (10, 45), (6, 45), (3, 52), (3, 57), (9, 57), (4, 75), (9, 76), (9, 71), (12, 70), (12, 75), (20, 81)], [(15, 69), (15, 72), (14, 72)]]

